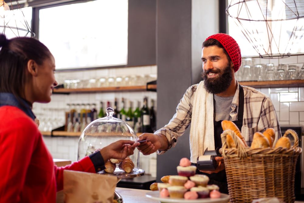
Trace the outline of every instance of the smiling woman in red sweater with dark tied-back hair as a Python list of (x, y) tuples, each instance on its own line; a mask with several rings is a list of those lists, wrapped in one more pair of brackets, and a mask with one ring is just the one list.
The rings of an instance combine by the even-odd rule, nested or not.
[(71, 165), (54, 166), (31, 110), (34, 102), (51, 100), (54, 57), (33, 38), (0, 35), (0, 47), (0, 203), (55, 202), (63, 170), (96, 173), (105, 160), (133, 154), (139, 143), (119, 140)]

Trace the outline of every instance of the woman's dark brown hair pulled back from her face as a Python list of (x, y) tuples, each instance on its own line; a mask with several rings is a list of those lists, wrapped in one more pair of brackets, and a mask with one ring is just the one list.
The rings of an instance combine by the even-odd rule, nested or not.
[(40, 41), (29, 37), (6, 39), (0, 34), (0, 92), (22, 96), (26, 81), (27, 62), (38, 65), (50, 58), (49, 49)]

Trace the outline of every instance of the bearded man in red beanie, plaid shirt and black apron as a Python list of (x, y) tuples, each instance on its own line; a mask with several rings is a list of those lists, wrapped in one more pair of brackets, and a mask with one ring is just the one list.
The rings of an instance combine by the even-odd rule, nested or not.
[[(202, 63), (203, 81), (187, 89), (170, 122), (154, 134), (139, 136), (139, 141), (149, 140), (137, 147), (144, 155), (166, 152), (176, 144), (190, 122), (190, 161), (193, 165), (205, 149), (222, 147), (223, 120), (237, 125), (248, 146), (255, 132), (264, 132), (267, 128), (274, 128), (274, 142), (282, 136), (270, 98), (254, 88), (239, 85), (235, 79), (235, 72), (241, 65), (241, 52), (232, 37), (223, 33), (208, 37), (202, 45)], [(197, 170), (197, 173), (208, 175), (209, 184), (216, 184), (221, 192), (228, 193), (223, 158), (216, 157), (216, 161), (219, 163), (216, 170)]]

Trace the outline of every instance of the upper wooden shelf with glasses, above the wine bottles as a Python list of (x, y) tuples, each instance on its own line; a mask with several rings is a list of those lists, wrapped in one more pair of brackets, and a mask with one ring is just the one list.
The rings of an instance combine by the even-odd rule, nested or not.
[(148, 84), (143, 86), (125, 86), (125, 87), (97, 87), (97, 88), (79, 88), (79, 89), (54, 89), (54, 93), (88, 93), (88, 92), (136, 92), (136, 91), (156, 91), (157, 85)]

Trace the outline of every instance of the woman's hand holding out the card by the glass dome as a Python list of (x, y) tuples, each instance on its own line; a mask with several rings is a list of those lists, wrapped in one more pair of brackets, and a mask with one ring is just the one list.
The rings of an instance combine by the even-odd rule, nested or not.
[(102, 148), (100, 153), (104, 161), (108, 159), (125, 159), (134, 153), (134, 149), (139, 144), (140, 143), (131, 140), (119, 140)]

